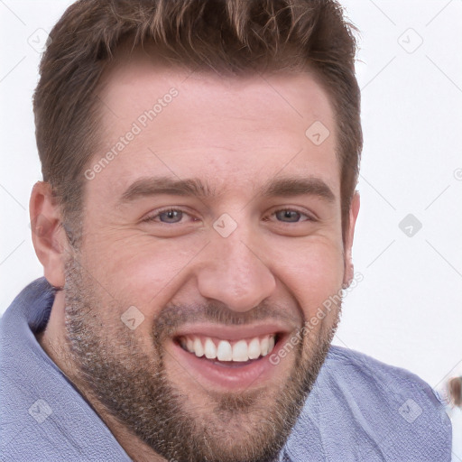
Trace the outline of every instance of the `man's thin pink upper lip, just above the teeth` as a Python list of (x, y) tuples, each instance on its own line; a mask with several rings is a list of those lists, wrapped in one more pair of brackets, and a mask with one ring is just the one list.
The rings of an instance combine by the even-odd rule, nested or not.
[(190, 324), (180, 328), (173, 337), (199, 335), (204, 337), (217, 337), (223, 340), (240, 340), (243, 338), (262, 337), (270, 334), (287, 334), (291, 328), (277, 322), (264, 324), (223, 326), (215, 323)]

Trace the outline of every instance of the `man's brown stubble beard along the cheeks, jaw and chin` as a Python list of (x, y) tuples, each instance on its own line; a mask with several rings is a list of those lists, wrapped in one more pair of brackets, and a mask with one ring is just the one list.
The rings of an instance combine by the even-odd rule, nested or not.
[[(291, 374), (278, 390), (270, 385), (240, 394), (210, 392), (207, 408), (198, 409), (167, 376), (162, 339), (172, 325), (168, 310), (152, 326), (153, 355), (146, 355), (136, 330), (120, 320), (121, 304), (103, 301), (101, 287), (74, 259), (66, 263), (64, 291), (66, 340), (80, 392), (170, 462), (277, 460), (328, 354), (340, 313), (338, 307), (317, 341), (304, 333), (291, 351)], [(103, 315), (110, 312), (117, 314), (105, 323)]]

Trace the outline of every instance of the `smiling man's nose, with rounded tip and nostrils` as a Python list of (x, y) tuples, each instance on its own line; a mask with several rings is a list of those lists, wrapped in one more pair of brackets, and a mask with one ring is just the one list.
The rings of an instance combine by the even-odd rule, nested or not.
[(271, 270), (240, 236), (217, 236), (208, 245), (208, 262), (198, 274), (199, 291), (208, 299), (226, 303), (230, 310), (245, 312), (269, 297), (276, 281)]

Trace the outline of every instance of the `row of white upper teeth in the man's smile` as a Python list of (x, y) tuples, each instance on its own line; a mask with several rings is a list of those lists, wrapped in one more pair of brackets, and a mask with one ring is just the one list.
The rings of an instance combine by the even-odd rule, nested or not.
[(196, 356), (206, 356), (219, 361), (248, 361), (266, 356), (273, 350), (275, 334), (254, 337), (249, 340), (228, 341), (211, 337), (180, 337), (181, 347)]

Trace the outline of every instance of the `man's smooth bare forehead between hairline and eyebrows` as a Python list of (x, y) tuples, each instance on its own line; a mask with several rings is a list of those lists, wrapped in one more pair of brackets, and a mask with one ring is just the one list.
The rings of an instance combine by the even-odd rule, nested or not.
[(225, 190), (279, 171), (338, 189), (334, 115), (310, 72), (223, 77), (141, 52), (123, 58), (98, 95), (102, 145), (92, 165), (113, 152), (93, 185), (101, 193), (150, 174), (207, 177)]

